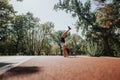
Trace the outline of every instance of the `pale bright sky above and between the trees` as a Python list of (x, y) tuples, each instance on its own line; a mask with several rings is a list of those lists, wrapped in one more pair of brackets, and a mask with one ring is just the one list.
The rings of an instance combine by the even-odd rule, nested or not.
[(53, 22), (56, 31), (66, 30), (67, 26), (71, 26), (71, 32), (76, 33), (74, 26), (76, 19), (72, 18), (65, 11), (60, 10), (56, 12), (53, 9), (54, 5), (58, 2), (59, 0), (23, 0), (22, 2), (11, 0), (10, 4), (13, 5), (15, 11), (18, 11), (18, 14), (31, 12), (35, 17), (40, 19), (40, 23)]

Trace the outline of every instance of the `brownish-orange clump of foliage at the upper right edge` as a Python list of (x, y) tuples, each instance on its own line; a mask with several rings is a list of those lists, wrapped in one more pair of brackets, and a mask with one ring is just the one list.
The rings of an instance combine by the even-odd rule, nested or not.
[(107, 4), (96, 11), (96, 23), (102, 28), (120, 27), (119, 5)]

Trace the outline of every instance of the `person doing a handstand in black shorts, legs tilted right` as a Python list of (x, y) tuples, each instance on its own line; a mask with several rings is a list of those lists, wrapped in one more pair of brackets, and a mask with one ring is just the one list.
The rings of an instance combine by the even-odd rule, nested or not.
[(68, 48), (67, 46), (65, 45), (65, 38), (66, 38), (66, 35), (67, 33), (71, 30), (71, 28), (68, 26), (68, 29), (62, 34), (61, 36), (61, 46), (62, 46), (62, 49), (63, 49), (63, 55), (64, 57), (67, 57), (68, 56)]

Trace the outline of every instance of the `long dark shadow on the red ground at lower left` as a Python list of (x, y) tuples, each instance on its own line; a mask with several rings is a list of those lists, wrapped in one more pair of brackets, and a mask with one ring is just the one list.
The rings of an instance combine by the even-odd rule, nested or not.
[(10, 77), (16, 77), (16, 76), (21, 76), (21, 75), (29, 76), (31, 74), (41, 72), (41, 71), (42, 71), (42, 67), (18, 66), (18, 67), (14, 67), (14, 68), (8, 70), (7, 72), (5, 72), (4, 74), (0, 75), (0, 80), (7, 80)]

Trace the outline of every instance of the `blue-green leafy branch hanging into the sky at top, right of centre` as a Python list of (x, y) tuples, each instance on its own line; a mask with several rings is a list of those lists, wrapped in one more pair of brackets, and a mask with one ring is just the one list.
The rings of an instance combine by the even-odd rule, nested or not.
[(82, 29), (83, 35), (88, 31), (89, 26), (94, 26), (95, 15), (90, 11), (90, 0), (87, 0), (85, 4), (79, 0), (60, 0), (59, 3), (54, 6), (54, 9), (65, 10), (66, 12), (70, 12), (73, 17), (77, 17), (76, 27), (78, 30), (79, 28)]

